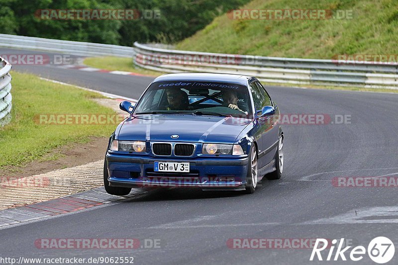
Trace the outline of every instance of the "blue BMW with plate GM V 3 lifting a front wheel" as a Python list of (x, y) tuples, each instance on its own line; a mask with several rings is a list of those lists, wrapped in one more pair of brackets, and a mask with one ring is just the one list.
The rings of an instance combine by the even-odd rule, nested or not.
[(280, 112), (254, 77), (181, 73), (156, 78), (109, 138), (105, 190), (199, 187), (253, 193), (283, 172)]

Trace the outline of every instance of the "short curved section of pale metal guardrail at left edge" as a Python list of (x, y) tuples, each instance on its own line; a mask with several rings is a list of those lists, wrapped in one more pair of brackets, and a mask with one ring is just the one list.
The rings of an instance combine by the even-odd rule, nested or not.
[(11, 120), (11, 65), (0, 57), (0, 127)]

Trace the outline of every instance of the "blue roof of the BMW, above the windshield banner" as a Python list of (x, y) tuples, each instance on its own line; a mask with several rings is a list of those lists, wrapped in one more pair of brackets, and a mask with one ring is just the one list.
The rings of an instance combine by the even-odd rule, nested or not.
[(153, 82), (165, 81), (202, 81), (202, 82), (225, 82), (239, 84), (242, 86), (247, 85), (247, 81), (253, 77), (234, 75), (234, 74), (213, 74), (213, 73), (177, 73), (166, 74), (157, 77)]

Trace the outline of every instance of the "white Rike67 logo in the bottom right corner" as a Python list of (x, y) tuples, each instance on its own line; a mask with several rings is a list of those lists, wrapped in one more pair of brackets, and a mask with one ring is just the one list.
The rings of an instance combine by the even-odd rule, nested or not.
[[(328, 248), (327, 243), (328, 241), (326, 239), (317, 238), (309, 260), (313, 261), (316, 257), (318, 261), (323, 261), (324, 257), (322, 257), (321, 252)], [(320, 247), (318, 248), (318, 246)], [(338, 241), (337, 239), (333, 239), (332, 245), (328, 249), (329, 252), (325, 261), (347, 261), (347, 258), (345, 256), (347, 255), (351, 261), (357, 262), (361, 261), (364, 258), (366, 251), (368, 251), (369, 258), (372, 261), (378, 264), (384, 264), (391, 261), (395, 254), (394, 243), (386, 237), (376, 237), (372, 239), (372, 241), (368, 245), (367, 250), (364, 246), (357, 246), (349, 251), (352, 246), (348, 246), (345, 248), (343, 248), (343, 246), (344, 238), (342, 238), (340, 241)], [(335, 247), (337, 247), (337, 249), (333, 257)]]

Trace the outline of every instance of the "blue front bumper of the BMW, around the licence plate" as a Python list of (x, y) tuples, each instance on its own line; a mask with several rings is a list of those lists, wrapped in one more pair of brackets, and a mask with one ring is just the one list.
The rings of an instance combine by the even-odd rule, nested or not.
[[(154, 172), (154, 162), (189, 162), (190, 173)], [(248, 157), (154, 158), (106, 154), (110, 186), (200, 187), (203, 190), (244, 190)]]

